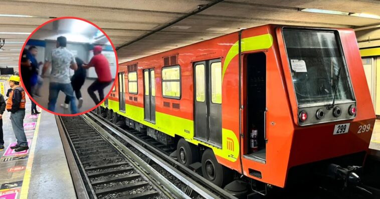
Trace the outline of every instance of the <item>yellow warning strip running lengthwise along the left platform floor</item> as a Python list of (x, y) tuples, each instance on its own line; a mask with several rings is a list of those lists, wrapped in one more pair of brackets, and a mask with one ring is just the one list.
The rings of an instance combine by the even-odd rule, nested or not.
[(40, 120), (41, 120), (41, 116), (38, 117), (36, 129), (34, 130), (33, 142), (31, 145), (31, 149), (29, 151), (29, 158), (28, 158), (27, 168), (24, 174), (23, 186), (21, 187), (20, 199), (28, 198), (29, 182), (31, 180), (34, 152), (35, 152), (36, 144), (37, 144), (37, 136), (38, 136), (38, 131), (40, 127)]

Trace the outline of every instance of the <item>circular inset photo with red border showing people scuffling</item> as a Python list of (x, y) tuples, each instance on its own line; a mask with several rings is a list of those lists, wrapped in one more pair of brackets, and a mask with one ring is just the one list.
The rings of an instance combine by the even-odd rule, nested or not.
[(107, 34), (94, 23), (60, 17), (40, 25), (20, 55), (20, 76), (37, 105), (65, 116), (91, 111), (113, 87), (117, 55)]

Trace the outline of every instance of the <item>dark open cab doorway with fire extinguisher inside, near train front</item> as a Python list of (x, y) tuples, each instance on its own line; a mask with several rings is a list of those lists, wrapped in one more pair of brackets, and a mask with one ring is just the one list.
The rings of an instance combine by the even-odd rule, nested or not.
[[(264, 52), (251, 53), (246, 56), (246, 76), (247, 79), (247, 132), (246, 144), (247, 152), (244, 157), (266, 162), (266, 54)], [(250, 135), (253, 129), (257, 129), (258, 135), (252, 138)], [(254, 141), (255, 140), (255, 141)], [(253, 143), (253, 141), (255, 143)], [(257, 144), (258, 148), (253, 149), (251, 144)]]

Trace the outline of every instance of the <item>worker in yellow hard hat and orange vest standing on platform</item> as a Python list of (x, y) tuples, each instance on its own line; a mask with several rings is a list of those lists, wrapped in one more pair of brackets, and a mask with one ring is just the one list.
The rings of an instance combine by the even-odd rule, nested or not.
[(16, 152), (28, 150), (28, 141), (24, 131), (25, 117), (25, 91), (20, 86), (20, 77), (12, 75), (9, 78), (9, 86), (12, 88), (9, 93), (6, 108), (11, 112), (12, 128), (15, 132), (17, 144), (11, 146)]

